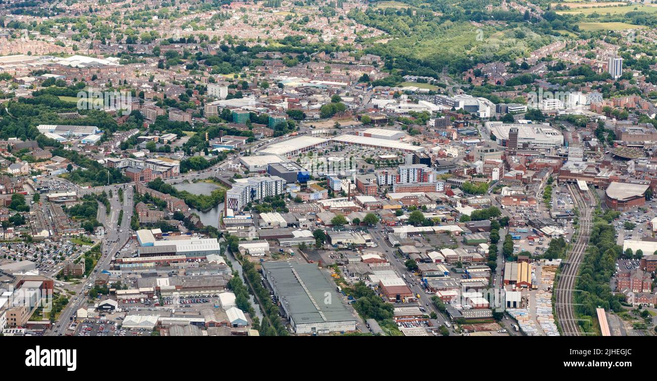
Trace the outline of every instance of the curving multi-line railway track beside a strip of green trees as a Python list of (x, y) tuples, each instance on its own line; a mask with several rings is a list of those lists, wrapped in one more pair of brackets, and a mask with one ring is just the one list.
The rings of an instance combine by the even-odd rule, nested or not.
[(591, 195), (591, 190), (587, 190), (584, 192), (587, 197), (585, 199), (572, 184), (568, 186), (568, 190), (572, 193), (579, 210), (579, 236), (566, 256), (566, 263), (558, 280), (556, 287), (556, 316), (563, 336), (580, 336), (581, 333), (579, 332), (573, 306), (573, 292), (579, 273), (579, 264), (589, 244), (589, 234), (593, 224), (591, 221), (593, 195)]

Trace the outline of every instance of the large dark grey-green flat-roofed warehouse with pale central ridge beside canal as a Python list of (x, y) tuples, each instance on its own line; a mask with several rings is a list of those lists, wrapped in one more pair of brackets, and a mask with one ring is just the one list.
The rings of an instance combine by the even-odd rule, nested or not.
[(262, 268), (296, 333), (355, 330), (355, 317), (317, 265), (267, 261)]

